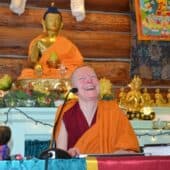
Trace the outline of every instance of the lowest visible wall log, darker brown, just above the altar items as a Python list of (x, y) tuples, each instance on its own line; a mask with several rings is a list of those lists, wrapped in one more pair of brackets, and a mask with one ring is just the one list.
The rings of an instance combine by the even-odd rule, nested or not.
[[(18, 58), (0, 58), (0, 76), (7, 73), (14, 79), (20, 74), (20, 70), (26, 67), (26, 59)], [(85, 62), (92, 66), (99, 78), (108, 78), (114, 85), (125, 86), (129, 80), (129, 63), (128, 62)], [(102, 71), (101, 71), (102, 70)]]

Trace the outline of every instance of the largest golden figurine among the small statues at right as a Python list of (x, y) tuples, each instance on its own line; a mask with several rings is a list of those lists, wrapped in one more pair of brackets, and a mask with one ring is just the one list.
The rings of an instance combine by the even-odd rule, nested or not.
[(130, 82), (130, 91), (126, 96), (126, 107), (129, 112), (140, 112), (144, 105), (144, 100), (142, 93), (140, 91), (142, 85), (142, 80), (135, 76)]

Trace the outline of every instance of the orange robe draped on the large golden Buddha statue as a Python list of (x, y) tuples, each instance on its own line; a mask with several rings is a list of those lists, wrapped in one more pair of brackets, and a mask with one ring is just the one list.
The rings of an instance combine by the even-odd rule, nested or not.
[[(33, 45), (43, 38), (45, 35), (40, 34), (36, 38), (34, 38), (30, 45), (29, 45), (29, 56), (31, 53), (31, 49)], [(43, 53), (41, 58), (39, 59), (39, 64), (43, 68), (43, 73), (41, 78), (60, 78), (62, 68), (51, 68), (48, 65), (48, 59), (52, 55), (52, 53), (55, 53), (58, 56), (58, 59), (60, 61), (60, 64), (63, 65), (63, 67), (66, 67), (67, 72), (64, 73), (65, 76), (68, 78), (70, 77), (73, 70), (77, 67), (83, 64), (83, 56), (81, 55), (79, 49), (76, 45), (74, 45), (69, 39), (63, 36), (57, 36), (56, 41), (48, 47)], [(64, 70), (63, 70), (64, 71)], [(37, 79), (39, 76), (35, 74), (35, 70), (31, 68), (25, 68), (22, 70), (21, 75), (18, 77), (18, 79)]]

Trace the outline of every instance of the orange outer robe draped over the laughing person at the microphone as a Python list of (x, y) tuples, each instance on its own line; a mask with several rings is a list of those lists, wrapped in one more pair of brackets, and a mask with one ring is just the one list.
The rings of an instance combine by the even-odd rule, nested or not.
[[(62, 116), (76, 102), (77, 100), (67, 102)], [(55, 132), (56, 138), (59, 134), (62, 116)], [(139, 151), (136, 135), (116, 101), (99, 101), (96, 116), (96, 123), (81, 136), (74, 146), (80, 150), (80, 153), (112, 153), (120, 149)]]

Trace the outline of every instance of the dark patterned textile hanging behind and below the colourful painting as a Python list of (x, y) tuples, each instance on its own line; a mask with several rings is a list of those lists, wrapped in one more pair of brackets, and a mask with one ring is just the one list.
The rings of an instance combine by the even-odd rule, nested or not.
[(153, 80), (170, 80), (170, 42), (138, 41), (134, 1), (130, 0), (131, 9), (131, 77)]

